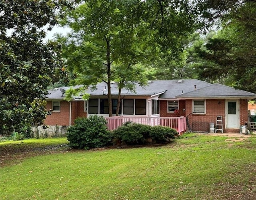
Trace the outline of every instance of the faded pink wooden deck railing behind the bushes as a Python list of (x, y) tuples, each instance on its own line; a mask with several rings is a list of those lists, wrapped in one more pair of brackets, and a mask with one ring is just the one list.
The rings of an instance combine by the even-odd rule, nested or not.
[(118, 126), (121, 126), (125, 122), (134, 122), (138, 124), (146, 124), (146, 125), (162, 125), (174, 128), (178, 131), (179, 135), (186, 131), (186, 119), (185, 117), (176, 117), (176, 118), (153, 118), (153, 117), (106, 117), (108, 122), (108, 129), (114, 130)]

